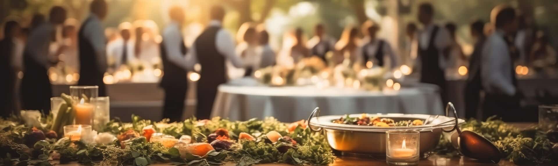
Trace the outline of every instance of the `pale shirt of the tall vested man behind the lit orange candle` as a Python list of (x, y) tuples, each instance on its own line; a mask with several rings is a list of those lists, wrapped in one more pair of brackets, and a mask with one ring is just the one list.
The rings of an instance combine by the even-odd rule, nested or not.
[(95, 50), (95, 58), (100, 71), (105, 71), (107, 69), (107, 57), (105, 55), (107, 53), (105, 43), (107, 38), (104, 35), (103, 23), (95, 14), (90, 14), (88, 19), (90, 19), (89, 23), (81, 28), (83, 28), (85, 39), (89, 40)]

